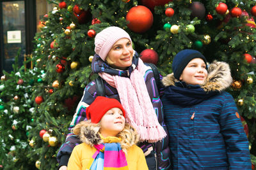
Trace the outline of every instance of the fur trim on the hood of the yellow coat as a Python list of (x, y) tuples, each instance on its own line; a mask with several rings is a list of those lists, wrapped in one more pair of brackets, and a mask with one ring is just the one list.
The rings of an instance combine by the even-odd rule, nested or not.
[[(99, 130), (99, 124), (92, 124), (90, 120), (86, 120), (77, 124), (76, 127), (74, 127), (73, 132), (79, 136), (81, 142), (93, 146), (103, 143), (99, 135)], [(138, 141), (140, 141), (140, 136), (136, 130), (127, 123), (125, 123), (124, 130), (116, 137), (122, 139), (120, 145), (123, 150), (127, 150), (132, 145), (136, 145)]]

